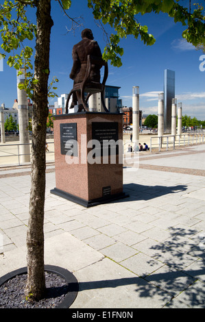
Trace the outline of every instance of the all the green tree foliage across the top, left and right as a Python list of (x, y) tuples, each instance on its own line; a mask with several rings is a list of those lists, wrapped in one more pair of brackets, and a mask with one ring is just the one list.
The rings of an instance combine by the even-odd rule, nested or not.
[[(60, 3), (64, 11), (69, 10), (71, 0), (55, 0)], [(73, 0), (74, 1), (74, 0)], [(27, 18), (27, 6), (36, 7), (37, 0), (5, 0), (0, 5), (0, 32), (2, 38), (0, 55), (5, 58), (6, 53), (12, 53), (8, 57), (8, 65), (19, 70), (25, 68), (26, 82), (21, 86), (25, 88), (29, 97), (37, 80), (32, 73), (31, 57), (33, 49), (29, 46), (22, 47), (25, 40), (32, 40), (36, 36), (36, 25)], [(104, 59), (110, 60), (114, 66), (121, 66), (121, 55), (123, 48), (119, 43), (128, 35), (134, 38), (141, 37), (145, 45), (153, 45), (156, 41), (149, 34), (146, 25), (138, 21), (140, 15), (154, 12), (164, 12), (173, 17), (176, 23), (180, 22), (186, 26), (182, 37), (191, 42), (195, 47), (203, 49), (205, 46), (205, 16), (202, 5), (195, 5), (195, 10), (190, 12), (189, 8), (180, 5), (180, 0), (88, 0), (88, 8), (93, 10), (94, 18), (99, 21), (101, 27), (108, 24), (113, 33), (108, 35), (108, 43), (104, 49)], [(16, 14), (16, 15), (15, 15)], [(69, 17), (70, 18), (70, 17)], [(20, 49), (18, 53), (13, 53)], [(49, 73), (45, 69), (45, 73)], [(55, 88), (53, 88), (55, 89)]]

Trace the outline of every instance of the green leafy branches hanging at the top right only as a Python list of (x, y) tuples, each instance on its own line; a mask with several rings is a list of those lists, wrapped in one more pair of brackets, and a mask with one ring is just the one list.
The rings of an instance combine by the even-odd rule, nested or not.
[(133, 35), (141, 36), (145, 45), (153, 45), (156, 41), (149, 34), (147, 26), (138, 22), (139, 15), (154, 12), (164, 12), (173, 17), (175, 23), (182, 23), (187, 29), (182, 37), (191, 42), (195, 47), (205, 45), (205, 17), (202, 5), (196, 5), (191, 13), (189, 8), (179, 4), (179, 0), (88, 0), (88, 7), (93, 9), (95, 19), (103, 24), (108, 23), (114, 28), (110, 35), (109, 43), (104, 49), (104, 58), (111, 60), (114, 66), (121, 66), (123, 48), (119, 46), (121, 38)]

